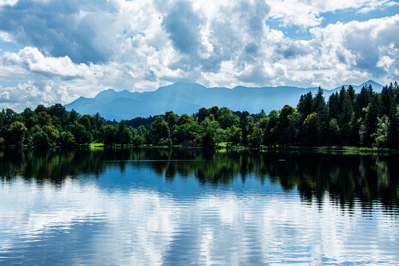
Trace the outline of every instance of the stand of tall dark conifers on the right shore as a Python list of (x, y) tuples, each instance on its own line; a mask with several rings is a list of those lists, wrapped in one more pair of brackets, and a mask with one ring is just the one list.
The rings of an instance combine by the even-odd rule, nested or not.
[(396, 81), (385, 85), (381, 93), (373, 91), (371, 84), (363, 86), (359, 93), (351, 85), (342, 86), (339, 93), (330, 95), (328, 102), (319, 87), (315, 97), (310, 92), (300, 97), (298, 115), (292, 121), (295, 138), (286, 144), (398, 149), (398, 104)]

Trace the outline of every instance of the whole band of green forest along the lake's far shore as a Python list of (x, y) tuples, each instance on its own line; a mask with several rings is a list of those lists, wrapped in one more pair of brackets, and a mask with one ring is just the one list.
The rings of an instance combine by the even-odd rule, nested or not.
[(165, 114), (106, 121), (97, 114), (67, 111), (62, 104), (38, 105), (17, 113), (0, 112), (1, 146), (352, 146), (399, 149), (399, 87), (381, 93), (371, 85), (356, 93), (352, 85), (326, 98), (302, 95), (296, 107), (285, 105), (269, 114), (233, 112), (223, 106), (200, 108), (178, 116)]

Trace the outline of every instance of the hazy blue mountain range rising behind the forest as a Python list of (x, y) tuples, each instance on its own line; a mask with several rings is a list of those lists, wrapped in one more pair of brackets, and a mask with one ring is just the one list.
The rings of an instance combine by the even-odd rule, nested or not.
[[(371, 84), (374, 91), (381, 91), (383, 85), (374, 81), (367, 81), (358, 86), (353, 86), (356, 92), (365, 85)], [(348, 87), (348, 85), (344, 85)], [(328, 96), (341, 88), (332, 90), (324, 89), (324, 96)], [(156, 91), (130, 92), (108, 89), (101, 91), (94, 98), (79, 97), (66, 104), (67, 110), (75, 109), (81, 114), (95, 114), (109, 120), (132, 119), (135, 117), (148, 117), (150, 115), (164, 114), (166, 111), (174, 113), (193, 114), (201, 107), (226, 106), (231, 110), (246, 110), (249, 113), (270, 112), (273, 109), (281, 109), (285, 104), (296, 106), (300, 95), (311, 91), (317, 92), (316, 87), (298, 88), (289, 86), (279, 87), (243, 87), (233, 89), (224, 87), (207, 88), (198, 83), (178, 82)]]

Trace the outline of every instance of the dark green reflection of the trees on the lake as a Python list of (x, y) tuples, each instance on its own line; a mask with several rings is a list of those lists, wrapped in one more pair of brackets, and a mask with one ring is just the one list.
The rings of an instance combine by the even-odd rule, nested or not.
[(121, 171), (134, 164), (173, 182), (196, 177), (203, 185), (229, 185), (249, 176), (269, 179), (304, 201), (322, 205), (326, 193), (338, 207), (364, 209), (379, 201), (399, 206), (398, 154), (330, 151), (266, 151), (196, 148), (2, 148), (3, 182), (35, 179), (62, 185), (66, 177), (99, 177), (109, 166)]

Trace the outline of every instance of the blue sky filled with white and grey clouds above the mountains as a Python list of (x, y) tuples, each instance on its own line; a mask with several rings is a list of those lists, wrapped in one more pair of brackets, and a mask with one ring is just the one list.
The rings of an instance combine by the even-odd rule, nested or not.
[(0, 0), (0, 108), (105, 89), (399, 81), (398, 0)]

